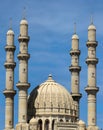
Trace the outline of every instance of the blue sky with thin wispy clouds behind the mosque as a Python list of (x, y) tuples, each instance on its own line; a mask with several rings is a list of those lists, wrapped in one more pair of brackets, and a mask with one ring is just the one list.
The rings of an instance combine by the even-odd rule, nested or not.
[[(29, 23), (29, 82), (30, 91), (38, 84), (44, 82), (49, 74), (54, 80), (64, 85), (70, 91), (71, 64), (69, 50), (71, 49), (71, 37), (74, 32), (74, 22), (77, 25), (77, 34), (80, 38), (80, 88), (83, 97), (80, 102), (80, 117), (87, 121), (87, 94), (84, 88), (87, 85), (87, 28), (90, 17), (93, 16), (97, 28), (97, 86), (100, 91), (97, 94), (97, 124), (103, 128), (103, 1), (102, 0), (1, 0), (0, 1), (0, 129), (4, 129), (5, 97), (2, 91), (5, 89), (5, 62), (4, 46), (6, 44), (6, 32), (9, 29), (10, 18), (15, 32), (15, 84), (18, 82), (19, 52), (19, 23), (23, 17), (23, 8), (26, 7), (26, 19)], [(14, 86), (15, 89), (16, 85)], [(15, 123), (17, 123), (17, 99), (15, 96)]]

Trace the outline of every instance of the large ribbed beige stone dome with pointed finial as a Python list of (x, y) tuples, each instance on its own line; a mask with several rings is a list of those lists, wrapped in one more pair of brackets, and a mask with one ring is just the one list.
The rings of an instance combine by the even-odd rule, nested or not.
[(76, 110), (71, 94), (51, 75), (31, 92), (28, 99), (28, 115), (31, 117), (48, 114), (76, 116)]

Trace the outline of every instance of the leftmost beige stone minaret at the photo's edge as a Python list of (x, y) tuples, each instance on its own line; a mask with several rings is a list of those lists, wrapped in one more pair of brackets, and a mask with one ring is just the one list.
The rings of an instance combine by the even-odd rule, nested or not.
[(5, 95), (5, 130), (13, 130), (14, 128), (14, 96), (16, 94), (14, 90), (15, 49), (14, 32), (12, 29), (9, 29), (7, 32), (7, 44), (5, 46), (6, 62), (4, 64), (6, 69), (6, 88), (3, 92)]

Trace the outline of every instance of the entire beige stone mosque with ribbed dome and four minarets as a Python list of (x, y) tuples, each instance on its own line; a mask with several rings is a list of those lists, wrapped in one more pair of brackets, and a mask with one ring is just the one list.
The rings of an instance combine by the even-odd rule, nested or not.
[(88, 124), (79, 117), (79, 102), (82, 97), (80, 93), (79, 74), (79, 37), (76, 33), (72, 36), (72, 47), (70, 50), (71, 65), (71, 92), (53, 80), (52, 75), (39, 86), (35, 87), (28, 95), (30, 83), (28, 83), (28, 22), (22, 19), (20, 22), (19, 54), (19, 79), (18, 88), (18, 123), (14, 126), (14, 61), (15, 45), (14, 32), (7, 32), (7, 43), (5, 46), (6, 62), (6, 87), (5, 95), (5, 128), (4, 130), (99, 130), (96, 124), (96, 94), (99, 88), (96, 85), (96, 27), (93, 22), (88, 27), (88, 40), (86, 43), (88, 56), (88, 84), (85, 88), (88, 103)]

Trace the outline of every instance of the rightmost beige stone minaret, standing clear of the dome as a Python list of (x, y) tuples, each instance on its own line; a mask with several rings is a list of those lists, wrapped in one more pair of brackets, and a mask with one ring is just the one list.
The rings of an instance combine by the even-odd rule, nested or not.
[(88, 129), (93, 127), (93, 130), (97, 129), (96, 126), (96, 93), (99, 88), (96, 86), (96, 64), (98, 59), (96, 58), (96, 46), (98, 42), (96, 41), (96, 27), (91, 25), (88, 27), (88, 57), (86, 63), (88, 66), (88, 85), (85, 91), (88, 95)]

